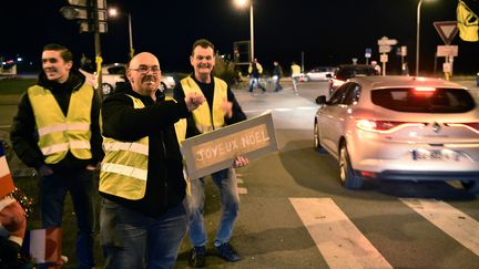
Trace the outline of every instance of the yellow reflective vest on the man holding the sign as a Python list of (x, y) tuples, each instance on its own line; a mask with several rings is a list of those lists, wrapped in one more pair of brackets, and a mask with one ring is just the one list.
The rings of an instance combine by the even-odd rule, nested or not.
[[(207, 133), (213, 130), (221, 128), (225, 125), (224, 111), (222, 104), (227, 101), (227, 84), (226, 82), (214, 77), (214, 95), (213, 95), (213, 110), (210, 108), (207, 102), (204, 102), (196, 110), (194, 110), (193, 118), (196, 124), (196, 128), (201, 133)], [(184, 94), (192, 92), (203, 94), (196, 82), (187, 76), (181, 81)], [(213, 118), (212, 118), (213, 117)]]

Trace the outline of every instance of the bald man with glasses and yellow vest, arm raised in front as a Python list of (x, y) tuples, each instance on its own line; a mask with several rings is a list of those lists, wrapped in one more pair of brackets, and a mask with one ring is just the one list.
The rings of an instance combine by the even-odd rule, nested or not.
[(186, 182), (174, 124), (204, 102), (165, 100), (160, 62), (136, 54), (129, 83), (103, 101), (100, 235), (105, 268), (173, 268), (187, 217)]

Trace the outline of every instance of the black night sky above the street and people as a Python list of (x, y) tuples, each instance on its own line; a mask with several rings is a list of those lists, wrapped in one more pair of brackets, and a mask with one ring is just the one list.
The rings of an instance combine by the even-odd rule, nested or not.
[[(233, 42), (249, 40), (249, 9), (238, 9), (233, 0), (106, 0), (109, 7), (131, 12), (135, 52), (150, 51), (159, 56), (166, 72), (191, 70), (192, 43), (210, 39), (221, 53), (232, 54)], [(477, 0), (472, 0), (477, 2)], [(278, 60), (283, 66), (302, 61), (305, 69), (315, 65), (364, 63), (365, 49), (370, 60), (379, 60), (377, 40), (386, 35), (407, 45), (406, 61), (414, 73), (416, 51), (416, 10), (418, 0), (255, 0), (255, 56), (266, 70)], [(94, 55), (91, 33), (79, 33), (75, 21), (59, 10), (67, 0), (2, 1), (0, 55), (23, 56), (39, 66), (41, 49), (57, 42), (73, 51)], [(420, 70), (432, 72), (436, 46), (444, 44), (434, 21), (456, 20), (456, 0), (424, 1), (421, 8)], [(126, 17), (110, 18), (109, 32), (101, 34), (105, 63), (125, 62), (129, 53)], [(479, 71), (479, 42), (455, 38), (459, 56), (455, 72)], [(369, 60), (369, 61), (370, 61)], [(388, 70), (399, 69), (400, 58), (389, 53)], [(438, 65), (444, 59), (438, 60)]]

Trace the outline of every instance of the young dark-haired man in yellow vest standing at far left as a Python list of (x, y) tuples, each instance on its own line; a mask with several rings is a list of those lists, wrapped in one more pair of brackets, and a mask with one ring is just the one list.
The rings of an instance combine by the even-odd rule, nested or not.
[(13, 118), (11, 142), (17, 156), (40, 174), (44, 228), (60, 227), (67, 193), (77, 216), (79, 268), (92, 268), (93, 170), (103, 158), (99, 127), (100, 99), (85, 77), (73, 70), (65, 46), (48, 44), (37, 85), (27, 90)]

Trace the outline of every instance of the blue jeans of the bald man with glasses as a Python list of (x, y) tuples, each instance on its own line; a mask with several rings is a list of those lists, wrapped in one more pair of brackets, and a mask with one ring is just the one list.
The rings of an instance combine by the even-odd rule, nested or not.
[(173, 268), (186, 226), (184, 204), (149, 217), (103, 199), (100, 236), (105, 268)]

